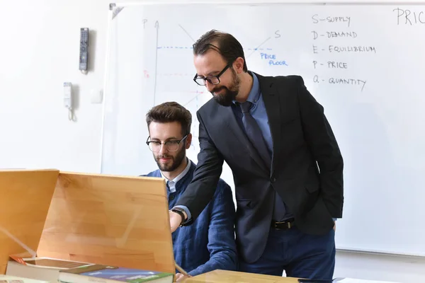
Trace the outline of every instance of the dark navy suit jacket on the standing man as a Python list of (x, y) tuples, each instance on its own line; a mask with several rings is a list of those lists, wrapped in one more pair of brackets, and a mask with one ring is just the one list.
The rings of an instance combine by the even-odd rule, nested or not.
[(211, 99), (197, 112), (200, 153), (193, 180), (176, 205), (188, 207), (190, 226), (210, 202), (223, 162), (234, 177), (238, 253), (260, 258), (272, 223), (275, 190), (304, 233), (324, 235), (341, 218), (343, 159), (324, 108), (300, 76), (260, 76), (272, 139), (268, 168), (238, 124), (231, 107)]

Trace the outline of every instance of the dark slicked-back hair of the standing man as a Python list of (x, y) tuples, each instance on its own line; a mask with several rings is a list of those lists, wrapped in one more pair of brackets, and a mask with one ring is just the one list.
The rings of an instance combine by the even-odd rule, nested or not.
[(244, 59), (244, 71), (248, 71), (244, 48), (242, 48), (242, 45), (233, 35), (217, 30), (210, 30), (208, 33), (204, 33), (199, 37), (193, 44), (193, 54), (195, 55), (203, 55), (210, 49), (220, 53), (227, 64), (232, 63), (238, 57), (242, 57)]

